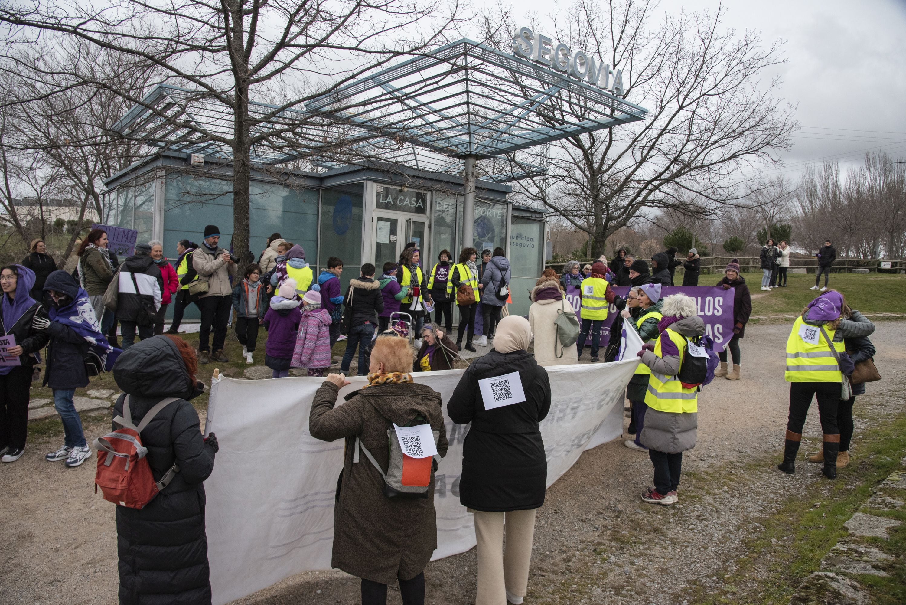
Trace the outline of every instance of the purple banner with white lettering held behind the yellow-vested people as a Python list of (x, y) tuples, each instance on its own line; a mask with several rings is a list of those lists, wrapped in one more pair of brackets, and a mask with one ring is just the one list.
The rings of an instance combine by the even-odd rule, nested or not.
[[(621, 298), (626, 298), (629, 293), (628, 286), (612, 288)], [(683, 293), (694, 298), (699, 305), (699, 317), (705, 322), (705, 334), (714, 340), (714, 351), (723, 351), (727, 343), (733, 338), (733, 288), (724, 290), (720, 286), (664, 286), (660, 291), (661, 299), (670, 294)], [(576, 314), (582, 316), (582, 301), (579, 298), (579, 286), (566, 287), (566, 301), (573, 304)], [(617, 309), (611, 305), (607, 319), (601, 326), (601, 348), (607, 346), (611, 337), (611, 325), (617, 316)], [(585, 341), (585, 346), (591, 346), (591, 341)]]

